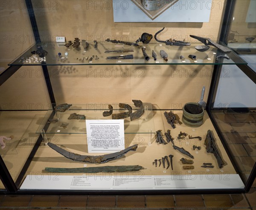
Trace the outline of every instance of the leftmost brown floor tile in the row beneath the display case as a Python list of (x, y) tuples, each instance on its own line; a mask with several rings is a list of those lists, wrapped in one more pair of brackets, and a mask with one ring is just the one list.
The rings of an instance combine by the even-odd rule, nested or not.
[(32, 196), (5, 196), (1, 206), (5, 207), (27, 207), (31, 201)]

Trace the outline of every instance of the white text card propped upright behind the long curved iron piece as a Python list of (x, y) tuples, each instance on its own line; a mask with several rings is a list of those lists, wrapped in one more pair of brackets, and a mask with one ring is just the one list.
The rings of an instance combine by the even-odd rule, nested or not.
[(124, 120), (86, 120), (89, 153), (113, 153), (125, 149)]

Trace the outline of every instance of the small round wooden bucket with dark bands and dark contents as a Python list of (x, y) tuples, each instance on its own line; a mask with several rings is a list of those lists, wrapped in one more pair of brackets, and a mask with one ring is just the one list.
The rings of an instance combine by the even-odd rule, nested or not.
[(204, 108), (197, 103), (183, 106), (182, 122), (188, 127), (199, 127), (204, 122)]

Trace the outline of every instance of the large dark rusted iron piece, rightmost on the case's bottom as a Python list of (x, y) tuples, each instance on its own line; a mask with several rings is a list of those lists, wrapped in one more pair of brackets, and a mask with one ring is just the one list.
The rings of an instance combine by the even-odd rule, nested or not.
[(213, 153), (215, 158), (217, 159), (218, 162), (218, 167), (222, 168), (224, 166), (224, 161), (221, 158), (221, 154), (218, 151), (218, 148), (215, 144), (215, 139), (213, 138), (211, 130), (207, 131), (207, 135), (204, 141), (204, 144), (206, 145), (206, 151), (208, 153)]

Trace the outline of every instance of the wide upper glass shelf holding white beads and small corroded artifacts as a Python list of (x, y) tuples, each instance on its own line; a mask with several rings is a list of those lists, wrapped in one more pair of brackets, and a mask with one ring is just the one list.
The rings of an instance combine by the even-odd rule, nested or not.
[[(203, 45), (202, 43), (192, 43), (191, 46), (166, 46), (164, 43), (149, 43), (143, 44), (140, 47), (127, 46), (123, 44), (114, 43), (98, 43), (98, 49), (94, 49), (94, 43), (90, 43), (87, 51), (84, 51), (84, 42), (78, 49), (74, 49), (72, 46), (69, 48), (64, 46), (65, 43), (44, 43), (41, 46), (33, 45), (26, 52), (20, 55), (18, 58), (9, 63), (9, 66), (54, 66), (54, 65), (215, 65), (215, 64), (247, 64), (236, 53), (230, 52), (227, 55), (232, 58), (230, 60), (221, 59), (216, 60), (217, 48), (210, 46), (210, 49), (206, 52), (198, 52), (195, 46)], [(224, 45), (223, 43), (220, 43)], [(146, 47), (146, 53), (150, 57), (149, 61), (145, 61), (141, 47)], [(224, 45), (225, 46), (225, 45)], [(169, 55), (169, 60), (166, 62), (160, 57), (160, 50), (163, 49)], [(40, 62), (32, 60), (32, 51), (46, 50), (46, 61)], [(134, 52), (128, 53), (105, 53), (107, 50), (134, 50)], [(157, 61), (152, 58), (152, 50), (157, 54)], [(65, 52), (68, 53), (65, 56)], [(61, 53), (61, 55), (58, 55)], [(131, 60), (106, 60), (108, 56), (119, 55), (134, 55), (134, 59)], [(93, 56), (98, 56), (99, 60), (93, 58), (92, 62), (89, 60)], [(183, 55), (184, 60), (180, 60), (180, 55)], [(189, 55), (196, 55), (197, 59), (192, 60), (188, 58)], [(225, 55), (223, 53), (222, 55)], [(39, 55), (35, 55), (39, 58)], [(88, 58), (88, 60), (86, 60)], [(30, 59), (26, 61), (26, 59)]]

